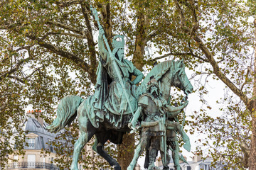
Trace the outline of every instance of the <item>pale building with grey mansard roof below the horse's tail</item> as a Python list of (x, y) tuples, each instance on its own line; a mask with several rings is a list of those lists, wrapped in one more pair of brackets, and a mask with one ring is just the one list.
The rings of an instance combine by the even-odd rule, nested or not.
[[(50, 145), (56, 137), (55, 133), (50, 133), (46, 130), (46, 123), (42, 119), (28, 117), (24, 123), (24, 131), (27, 131), (26, 143), (24, 143), (24, 155), (9, 155), (10, 161), (7, 169), (59, 169), (54, 163), (55, 150)], [(14, 146), (15, 149), (16, 146)], [(43, 157), (43, 150), (48, 149), (50, 154), (45, 154)]]

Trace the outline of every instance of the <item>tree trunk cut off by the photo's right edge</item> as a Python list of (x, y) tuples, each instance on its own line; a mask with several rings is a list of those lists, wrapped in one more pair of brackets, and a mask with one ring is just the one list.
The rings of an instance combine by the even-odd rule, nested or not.
[[(256, 17), (254, 21), (255, 25), (255, 40), (256, 40)], [(254, 54), (254, 82), (252, 91), (252, 137), (250, 146), (250, 158), (249, 158), (249, 169), (256, 169), (256, 45)]]

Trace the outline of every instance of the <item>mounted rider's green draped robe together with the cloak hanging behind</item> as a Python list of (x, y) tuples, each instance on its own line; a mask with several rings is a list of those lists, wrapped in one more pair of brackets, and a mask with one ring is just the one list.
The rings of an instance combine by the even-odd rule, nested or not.
[[(132, 95), (132, 84), (130, 78), (132, 75), (138, 76), (142, 74), (132, 62), (129, 60), (119, 61), (114, 58), (117, 63), (118, 73), (121, 74), (124, 89), (117, 77), (110, 56), (107, 60), (101, 60), (97, 69), (97, 84), (95, 95), (89, 96), (84, 104), (84, 113), (87, 114), (90, 122), (95, 128), (99, 128), (100, 122), (105, 119), (114, 126), (114, 128), (122, 128), (129, 123), (132, 118), (132, 111), (137, 111), (137, 99)], [(126, 91), (131, 104), (132, 111), (129, 108)]]

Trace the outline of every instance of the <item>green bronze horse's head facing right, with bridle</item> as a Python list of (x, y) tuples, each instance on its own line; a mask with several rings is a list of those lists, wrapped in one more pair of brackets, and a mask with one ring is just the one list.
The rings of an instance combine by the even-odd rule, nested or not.
[(186, 76), (183, 60), (175, 62), (175, 72), (171, 84), (183, 90), (186, 95), (192, 93), (193, 86)]

